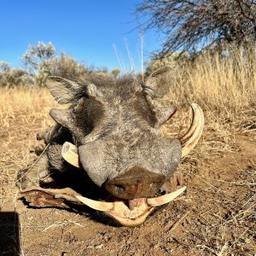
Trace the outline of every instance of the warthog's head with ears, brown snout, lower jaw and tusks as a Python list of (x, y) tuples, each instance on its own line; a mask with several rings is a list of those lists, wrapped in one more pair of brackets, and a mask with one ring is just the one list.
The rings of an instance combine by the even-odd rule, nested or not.
[(51, 109), (50, 115), (73, 134), (80, 168), (113, 196), (113, 202), (82, 196), (79, 200), (108, 212), (121, 224), (141, 224), (155, 206), (183, 192), (154, 197), (201, 136), (203, 117), (196, 104), (192, 105), (195, 119), (183, 138), (162, 136), (160, 126), (176, 108), (155, 104), (166, 93), (161, 78), (156, 73), (145, 83), (132, 76), (92, 77), (82, 83), (58, 77), (47, 80), (57, 102), (71, 103), (67, 109)]

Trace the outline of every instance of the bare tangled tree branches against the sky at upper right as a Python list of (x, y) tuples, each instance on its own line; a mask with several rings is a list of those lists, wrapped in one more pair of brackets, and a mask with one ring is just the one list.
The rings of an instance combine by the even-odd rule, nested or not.
[(158, 57), (256, 38), (255, 0), (143, 0), (136, 14), (144, 31), (157, 29), (166, 35)]

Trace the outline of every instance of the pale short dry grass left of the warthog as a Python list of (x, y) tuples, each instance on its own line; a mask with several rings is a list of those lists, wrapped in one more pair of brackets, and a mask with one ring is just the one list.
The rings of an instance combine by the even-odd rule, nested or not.
[(0, 90), (0, 209), (15, 201), (16, 172), (32, 160), (37, 132), (53, 123), (48, 113), (54, 105), (44, 89)]

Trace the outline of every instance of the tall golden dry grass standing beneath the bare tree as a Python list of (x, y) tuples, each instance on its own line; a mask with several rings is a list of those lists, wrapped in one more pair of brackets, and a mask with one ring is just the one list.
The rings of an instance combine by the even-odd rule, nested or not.
[(177, 68), (169, 97), (177, 105), (198, 102), (234, 119), (256, 107), (255, 49), (233, 48), (225, 55), (206, 53)]

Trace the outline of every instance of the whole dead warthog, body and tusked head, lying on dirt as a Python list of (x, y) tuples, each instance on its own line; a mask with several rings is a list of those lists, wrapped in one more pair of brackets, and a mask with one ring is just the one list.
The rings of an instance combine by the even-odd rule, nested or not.
[[(129, 75), (117, 79), (94, 75), (79, 82), (49, 77), (52, 96), (69, 107), (50, 110), (56, 125), (44, 135), (48, 145), (34, 165), (18, 174), (26, 201), (40, 207), (60, 207), (67, 201), (85, 204), (120, 224), (136, 226), (154, 207), (183, 193), (185, 187), (168, 193), (168, 184), (182, 157), (199, 141), (204, 118), (193, 103), (189, 131), (179, 139), (164, 137), (160, 127), (176, 112), (175, 107), (157, 104), (168, 89), (165, 79), (166, 70), (152, 74), (145, 83)], [(82, 170), (104, 190), (104, 201), (83, 196), (85, 185), (79, 193), (38, 186), (56, 170)]]

